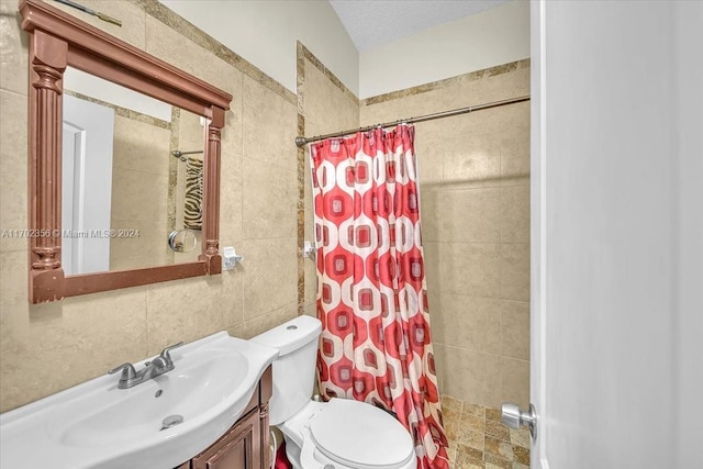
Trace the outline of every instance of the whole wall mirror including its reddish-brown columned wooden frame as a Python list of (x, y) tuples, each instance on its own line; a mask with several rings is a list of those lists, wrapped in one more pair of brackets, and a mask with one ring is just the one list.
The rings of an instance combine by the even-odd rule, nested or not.
[[(220, 273), (220, 136), (232, 97), (43, 1), (20, 11), (30, 301)], [(182, 228), (199, 248), (169, 248)]]

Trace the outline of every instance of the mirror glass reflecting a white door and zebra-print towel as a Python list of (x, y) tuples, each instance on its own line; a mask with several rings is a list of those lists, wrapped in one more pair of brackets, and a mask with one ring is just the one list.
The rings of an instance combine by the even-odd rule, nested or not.
[[(189, 263), (201, 246), (204, 118), (68, 68), (62, 264), (66, 275)], [(178, 156), (178, 157), (174, 157)]]

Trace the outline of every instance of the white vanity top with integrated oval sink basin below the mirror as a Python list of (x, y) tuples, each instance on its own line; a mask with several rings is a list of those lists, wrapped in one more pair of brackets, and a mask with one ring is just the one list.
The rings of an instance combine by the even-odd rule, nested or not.
[[(0, 467), (174, 468), (236, 422), (277, 353), (221, 332), (171, 350), (174, 370), (133, 388), (105, 375), (7, 412)], [(180, 423), (165, 428), (167, 417)]]

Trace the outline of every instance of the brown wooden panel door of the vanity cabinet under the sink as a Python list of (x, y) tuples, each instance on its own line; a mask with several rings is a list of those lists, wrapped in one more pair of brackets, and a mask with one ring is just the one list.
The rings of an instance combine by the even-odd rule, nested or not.
[[(258, 407), (249, 412), (208, 450), (192, 460), (193, 469), (258, 469)], [(255, 451), (257, 449), (257, 451)]]

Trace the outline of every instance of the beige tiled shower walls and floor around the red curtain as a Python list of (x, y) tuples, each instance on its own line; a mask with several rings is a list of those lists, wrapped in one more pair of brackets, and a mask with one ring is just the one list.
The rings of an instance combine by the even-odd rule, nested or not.
[[(299, 43), (298, 83), (299, 135), (313, 136), (529, 96), (529, 60), (359, 100)], [(502, 425), (500, 406), (529, 403), (529, 102), (414, 125), (451, 467), (526, 468), (528, 434)], [(298, 161), (302, 252), (314, 239), (306, 146)], [(314, 261), (301, 256), (299, 277), (300, 312), (315, 315)]]

